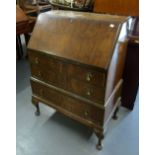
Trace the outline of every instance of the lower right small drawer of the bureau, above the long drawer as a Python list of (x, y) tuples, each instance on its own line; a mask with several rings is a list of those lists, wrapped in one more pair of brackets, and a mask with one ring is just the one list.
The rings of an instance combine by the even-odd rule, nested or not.
[(104, 104), (104, 88), (102, 87), (71, 78), (68, 80), (68, 90), (96, 103)]

